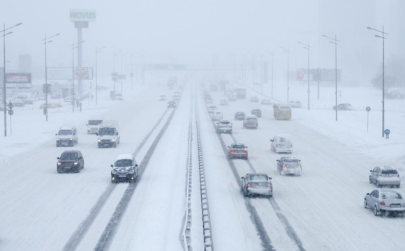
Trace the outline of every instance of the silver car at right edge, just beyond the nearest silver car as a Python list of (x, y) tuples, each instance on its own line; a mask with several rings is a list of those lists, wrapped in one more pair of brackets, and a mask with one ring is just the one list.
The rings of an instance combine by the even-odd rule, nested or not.
[(370, 183), (376, 183), (377, 188), (382, 185), (395, 185), (397, 188), (401, 186), (401, 178), (398, 171), (391, 166), (380, 166), (370, 170)]

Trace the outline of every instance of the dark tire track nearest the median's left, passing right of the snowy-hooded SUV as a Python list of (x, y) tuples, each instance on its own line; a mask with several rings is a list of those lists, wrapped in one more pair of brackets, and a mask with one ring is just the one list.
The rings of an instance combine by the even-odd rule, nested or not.
[[(142, 177), (142, 174), (145, 172), (145, 169), (146, 169), (147, 165), (149, 164), (149, 160), (152, 158), (152, 155), (156, 149), (156, 146), (159, 144), (161, 137), (163, 136), (166, 129), (168, 128), (170, 121), (172, 121), (172, 118), (175, 115), (176, 110), (177, 109), (173, 109), (173, 111), (170, 114), (165, 125), (163, 126), (163, 128), (161, 129), (159, 134), (154, 139), (154, 142), (152, 143), (152, 145), (149, 147), (149, 149), (145, 155), (145, 158), (143, 158), (142, 162), (140, 162), (138, 180)], [(96, 244), (96, 248), (94, 248), (94, 250), (96, 250), (96, 251), (108, 250), (108, 248), (110, 247), (110, 243), (112, 242), (112, 238), (115, 235), (117, 226), (119, 225), (119, 222), (121, 221), (121, 218), (125, 213), (126, 207), (128, 206), (129, 201), (131, 200), (131, 197), (133, 195), (133, 192), (135, 192), (135, 189), (137, 188), (137, 186), (138, 186), (138, 182), (128, 184), (128, 188), (126, 188), (124, 195), (122, 195), (121, 200), (119, 201), (119, 204), (117, 205), (117, 208), (115, 208), (115, 211), (112, 214), (107, 227), (105, 227), (103, 234), (101, 234), (100, 238), (98, 239), (98, 243)]]

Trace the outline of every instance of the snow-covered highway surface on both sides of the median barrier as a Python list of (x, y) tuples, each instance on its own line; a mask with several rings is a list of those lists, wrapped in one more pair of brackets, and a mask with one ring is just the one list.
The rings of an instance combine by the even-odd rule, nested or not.
[[(0, 250), (183, 250), (188, 132), (195, 104), (191, 89), (196, 91), (194, 109), (199, 114), (215, 250), (405, 248), (405, 219), (376, 218), (362, 205), (364, 195), (375, 189), (368, 174), (381, 165), (378, 155), (365, 155), (314, 130), (310, 123), (300, 123), (304, 111), (291, 121), (277, 121), (271, 106), (249, 99), (219, 106), (223, 93), (216, 92), (214, 105), (233, 123), (233, 135), (219, 138), (199, 87), (188, 86), (179, 107), (168, 109), (157, 98), (172, 96), (172, 91), (155, 86), (103, 109), (103, 115), (119, 121), (121, 127), (116, 149), (97, 149), (96, 136), (86, 134), (88, 114), (74, 114), (71, 121), (78, 128), (79, 144), (73, 149), (84, 155), (79, 174), (57, 174), (57, 156), (71, 148), (56, 148), (49, 136), (27, 151), (15, 155), (8, 151), (0, 171)], [(258, 129), (244, 129), (233, 114), (249, 114), (253, 108), (263, 112)], [(60, 113), (61, 118), (73, 116)], [(32, 126), (43, 123), (32, 121)], [(50, 132), (61, 125), (53, 121), (52, 126)], [(20, 133), (30, 139), (28, 132)], [(270, 151), (270, 139), (279, 133), (292, 137), (292, 155), (302, 160), (302, 176), (279, 176), (276, 160), (282, 154)], [(249, 160), (228, 160), (223, 146), (233, 142), (249, 146)], [(145, 160), (135, 185), (110, 183), (110, 165), (121, 153), (136, 153), (140, 165)], [(247, 172), (272, 177), (272, 199), (242, 196), (240, 176)], [(133, 194), (124, 197), (116, 227), (101, 244), (121, 198), (132, 188)], [(403, 187), (398, 190), (405, 195)], [(192, 239), (193, 250), (203, 250), (202, 238)]]

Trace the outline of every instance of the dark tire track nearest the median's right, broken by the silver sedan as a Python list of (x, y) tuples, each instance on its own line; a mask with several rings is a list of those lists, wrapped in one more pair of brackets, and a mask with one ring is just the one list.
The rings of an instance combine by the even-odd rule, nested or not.
[[(215, 130), (214, 121), (212, 121), (212, 126), (214, 127), (214, 130)], [(218, 133), (216, 133), (216, 136), (218, 136), (219, 142), (221, 143), (223, 153), (225, 153), (225, 155), (227, 155), (228, 148), (226, 147), (226, 144), (223, 141), (222, 136)], [(235, 138), (233, 138), (233, 139), (235, 139)], [(240, 175), (237, 172), (235, 163), (230, 158), (227, 158), (227, 160), (228, 160), (230, 169), (233, 173), (233, 176), (235, 177), (235, 181), (236, 181), (237, 185), (239, 185), (239, 187), (242, 189), (241, 184), (240, 184)], [(244, 205), (246, 206), (246, 210), (250, 214), (251, 221), (253, 222), (253, 225), (258, 233), (263, 250), (265, 250), (265, 251), (276, 250), (272, 245), (272, 241), (270, 240), (270, 237), (267, 234), (265, 226), (263, 225), (263, 222), (260, 219), (260, 216), (258, 215), (256, 208), (251, 204), (251, 201), (249, 198), (246, 198), (246, 197), (244, 198)]]

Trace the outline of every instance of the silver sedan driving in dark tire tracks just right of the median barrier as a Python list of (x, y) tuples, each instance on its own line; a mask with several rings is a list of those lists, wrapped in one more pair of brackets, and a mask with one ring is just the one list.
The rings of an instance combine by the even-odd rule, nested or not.
[(265, 195), (267, 197), (273, 196), (272, 178), (267, 174), (246, 174), (241, 177), (243, 195)]

